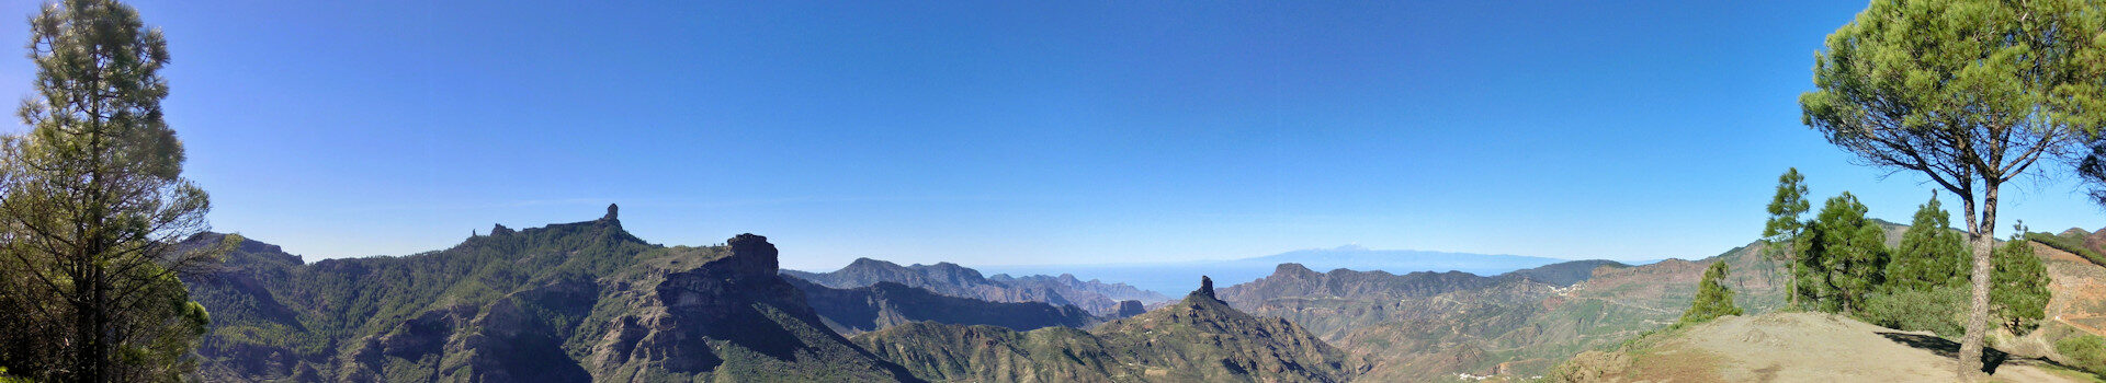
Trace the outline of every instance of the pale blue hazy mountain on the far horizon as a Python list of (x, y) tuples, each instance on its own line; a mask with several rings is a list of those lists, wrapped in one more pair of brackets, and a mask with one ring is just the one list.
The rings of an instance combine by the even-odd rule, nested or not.
[(1270, 276), (1280, 263), (1299, 263), (1310, 269), (1360, 269), (1360, 271), (1466, 271), (1476, 276), (1497, 276), (1514, 269), (1563, 263), (1567, 259), (1523, 257), (1523, 255), (1474, 255), (1441, 250), (1373, 250), (1365, 246), (1289, 250), (1280, 255), (1230, 259), (1230, 261), (1177, 261), (1177, 263), (1106, 263), (1106, 265), (979, 265), (992, 274), (1074, 274), (1080, 278), (1112, 280), (1146, 290), (1179, 290), (1192, 278), (1211, 276), (1221, 284), (1243, 284)]

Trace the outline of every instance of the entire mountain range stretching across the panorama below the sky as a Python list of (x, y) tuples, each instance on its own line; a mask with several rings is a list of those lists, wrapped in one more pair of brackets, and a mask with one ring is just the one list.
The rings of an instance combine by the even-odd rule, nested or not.
[[(2095, 253), (2095, 238), (2055, 246)], [(183, 246), (227, 240), (240, 246), (219, 269), (185, 276), (213, 316), (202, 381), (1527, 381), (1672, 324), (1710, 263), (1731, 265), (1725, 284), (1750, 316), (1784, 307), (1788, 280), (1752, 242), (1502, 274), (1276, 263), (1226, 288), (1194, 278), (1169, 301), (954, 263), (788, 271), (762, 236), (659, 246), (613, 206), (406, 257), (303, 263), (223, 234)], [(2106, 267), (2041, 244), (2051, 328), (2098, 332)]]

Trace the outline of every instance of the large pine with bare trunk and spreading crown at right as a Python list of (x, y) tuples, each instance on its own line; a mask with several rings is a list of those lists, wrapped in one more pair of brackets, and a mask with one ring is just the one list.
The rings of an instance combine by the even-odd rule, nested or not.
[(1956, 372), (1980, 370), (2001, 187), (2081, 154), (2106, 122), (2106, 4), (1872, 0), (1828, 36), (1805, 124), (1860, 160), (1963, 200), (1973, 269)]

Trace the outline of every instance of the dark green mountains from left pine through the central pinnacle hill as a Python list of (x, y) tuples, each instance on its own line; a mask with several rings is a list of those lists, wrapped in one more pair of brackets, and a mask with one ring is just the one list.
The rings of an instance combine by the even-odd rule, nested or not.
[[(238, 238), (183, 246), (225, 240)], [(1348, 381), (1363, 366), (1291, 322), (1232, 309), (1211, 286), (1080, 330), (1099, 318), (1072, 305), (792, 280), (762, 236), (649, 244), (621, 229), (615, 206), (409, 257), (303, 263), (242, 240), (185, 284), (213, 314), (200, 381), (981, 381), (984, 366), (1005, 364), (931, 364), (965, 349), (1045, 372), (992, 381)], [(842, 337), (857, 330), (872, 332)]]

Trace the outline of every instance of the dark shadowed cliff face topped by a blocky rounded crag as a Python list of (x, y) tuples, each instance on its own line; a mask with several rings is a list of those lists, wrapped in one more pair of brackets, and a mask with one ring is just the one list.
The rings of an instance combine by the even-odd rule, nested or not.
[(775, 276), (775, 244), (741, 234), (731, 255), (665, 274), (592, 347), (600, 381), (914, 381), (828, 330)]

